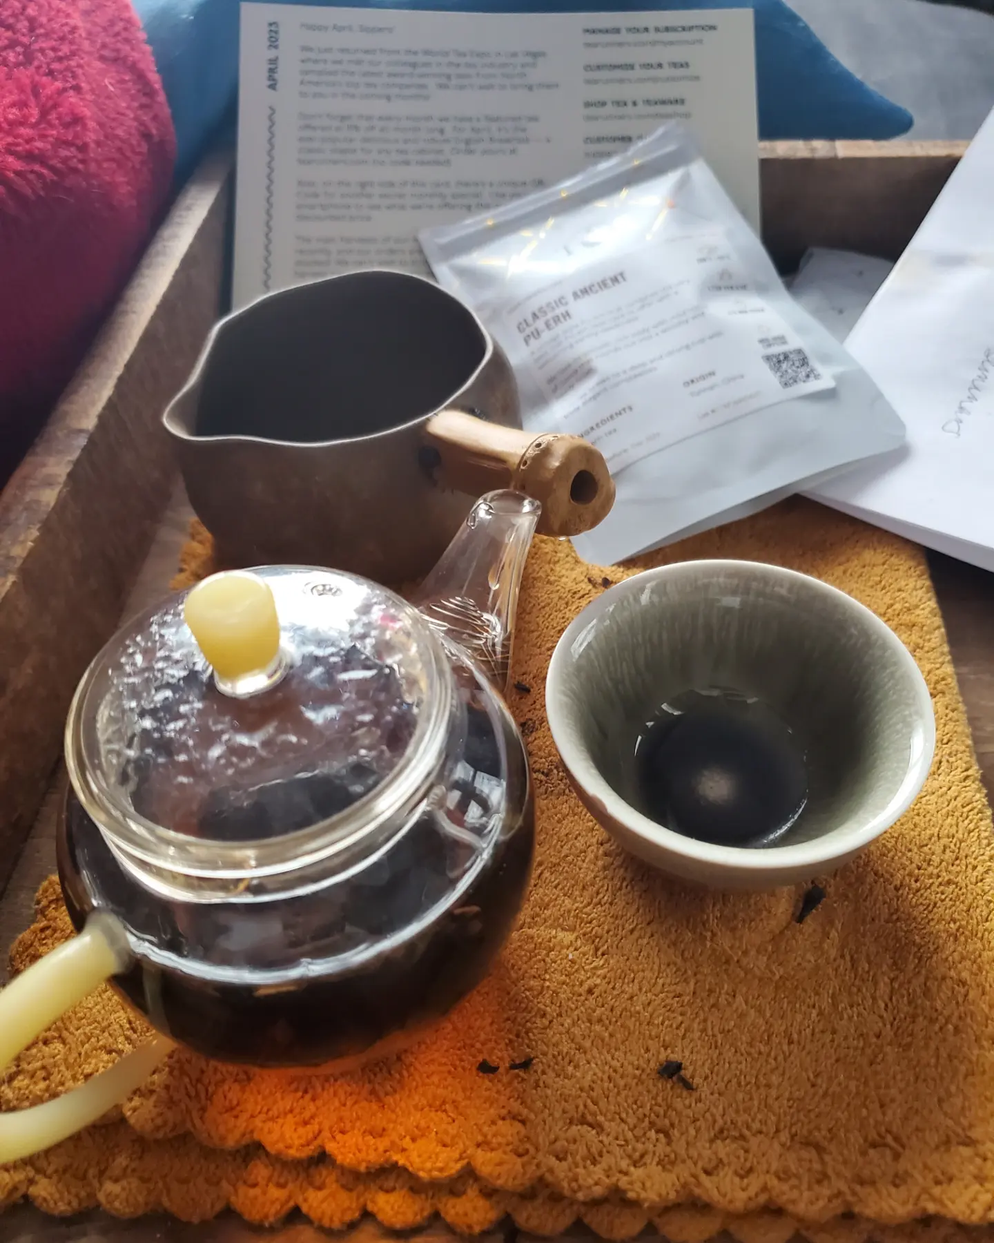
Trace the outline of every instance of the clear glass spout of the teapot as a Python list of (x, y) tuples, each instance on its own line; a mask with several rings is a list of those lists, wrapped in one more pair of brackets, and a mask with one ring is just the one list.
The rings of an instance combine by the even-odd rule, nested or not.
[(501, 694), (511, 672), (522, 573), (540, 515), (542, 505), (523, 492), (481, 496), (414, 599)]

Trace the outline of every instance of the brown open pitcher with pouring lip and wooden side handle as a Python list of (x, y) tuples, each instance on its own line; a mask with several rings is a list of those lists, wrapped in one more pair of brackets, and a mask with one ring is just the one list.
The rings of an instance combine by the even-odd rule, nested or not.
[(222, 558), (425, 573), (483, 492), (542, 502), (570, 536), (614, 502), (601, 454), (521, 430), (511, 367), (480, 319), (417, 276), (353, 272), (222, 319), (164, 415)]

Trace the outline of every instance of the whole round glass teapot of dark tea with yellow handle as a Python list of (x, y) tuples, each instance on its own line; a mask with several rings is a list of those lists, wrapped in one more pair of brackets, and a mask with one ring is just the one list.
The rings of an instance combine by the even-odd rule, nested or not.
[(157, 1035), (0, 1116), (0, 1162), (99, 1117), (174, 1043), (348, 1069), (480, 982), (531, 874), (501, 692), (539, 511), (482, 497), (416, 608), (275, 566), (205, 579), (99, 653), (66, 726), (58, 874), (80, 935), (0, 992), (0, 1066), (107, 979)]

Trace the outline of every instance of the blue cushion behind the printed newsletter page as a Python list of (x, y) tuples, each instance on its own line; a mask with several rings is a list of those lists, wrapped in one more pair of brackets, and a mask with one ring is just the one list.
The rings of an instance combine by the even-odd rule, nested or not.
[[(292, 0), (282, 0), (292, 2)], [(134, 0), (173, 108), (180, 175), (199, 157), (235, 96), (239, 0)], [(354, 0), (345, 7), (482, 12), (605, 12), (610, 0)], [(666, 9), (741, 9), (743, 0), (665, 0)], [(911, 113), (841, 65), (783, 0), (753, 0), (760, 138), (895, 138)]]

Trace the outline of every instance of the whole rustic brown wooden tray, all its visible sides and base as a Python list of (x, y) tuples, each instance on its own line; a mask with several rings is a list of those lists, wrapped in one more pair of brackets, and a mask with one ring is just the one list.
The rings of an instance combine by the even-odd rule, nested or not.
[[(921, 224), (965, 143), (767, 143), (764, 240), (789, 271), (810, 245), (896, 257)], [(230, 162), (209, 162), (178, 200), (134, 281), (36, 449), (0, 496), (0, 902), (4, 941), (30, 921), (36, 885), (53, 870), (55, 797), (32, 827), (58, 758), (62, 722), (86, 663), (117, 625), (142, 576), (165, 590), (183, 538), (181, 500), (160, 526), (174, 484), (158, 419), (221, 305)], [(994, 789), (994, 576), (936, 557), (949, 631), (988, 792)], [(144, 603), (137, 595), (133, 605)], [(51, 791), (55, 794), (55, 789)], [(0, 965), (2, 977), (2, 965)], [(227, 1214), (204, 1226), (103, 1213), (58, 1221), (20, 1206), (0, 1217), (9, 1243), (323, 1243), (303, 1221), (261, 1229)], [(518, 1243), (524, 1236), (517, 1234)], [(379, 1243), (368, 1222), (349, 1243)], [(454, 1239), (444, 1226), (419, 1243)], [(486, 1236), (504, 1243), (507, 1232)], [(572, 1232), (572, 1243), (589, 1241)]]

